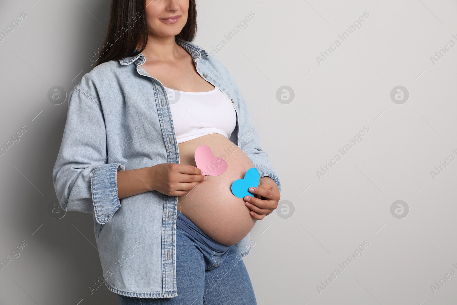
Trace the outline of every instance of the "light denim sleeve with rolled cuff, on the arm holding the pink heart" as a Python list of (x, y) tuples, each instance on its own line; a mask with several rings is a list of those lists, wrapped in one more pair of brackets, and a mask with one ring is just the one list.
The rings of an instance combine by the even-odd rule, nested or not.
[(53, 168), (54, 189), (66, 211), (95, 214), (105, 224), (121, 207), (117, 194), (118, 162), (108, 163), (106, 128), (96, 98), (75, 87), (69, 94), (67, 121)]

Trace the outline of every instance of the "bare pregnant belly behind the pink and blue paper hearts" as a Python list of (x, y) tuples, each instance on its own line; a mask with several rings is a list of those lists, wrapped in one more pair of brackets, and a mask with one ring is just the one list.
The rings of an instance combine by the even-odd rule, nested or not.
[(222, 134), (207, 134), (178, 144), (180, 164), (196, 166), (194, 153), (200, 145), (208, 145), (214, 156), (224, 158), (227, 170), (219, 176), (207, 176), (187, 195), (179, 196), (178, 210), (213, 240), (231, 246), (255, 225), (256, 219), (249, 214), (243, 198), (231, 191), (232, 183), (244, 178), (253, 165), (243, 150)]

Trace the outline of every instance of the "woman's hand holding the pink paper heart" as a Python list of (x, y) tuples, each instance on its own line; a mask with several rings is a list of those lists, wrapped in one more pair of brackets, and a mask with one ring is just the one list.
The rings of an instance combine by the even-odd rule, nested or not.
[(168, 196), (189, 193), (207, 177), (195, 166), (177, 163), (161, 163), (150, 167), (150, 180), (154, 190)]

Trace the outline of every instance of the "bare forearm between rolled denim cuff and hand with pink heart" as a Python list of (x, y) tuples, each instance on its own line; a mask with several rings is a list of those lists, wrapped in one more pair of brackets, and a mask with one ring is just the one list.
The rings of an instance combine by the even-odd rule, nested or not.
[(117, 172), (117, 197), (119, 199), (149, 192), (154, 189), (151, 182), (151, 167)]

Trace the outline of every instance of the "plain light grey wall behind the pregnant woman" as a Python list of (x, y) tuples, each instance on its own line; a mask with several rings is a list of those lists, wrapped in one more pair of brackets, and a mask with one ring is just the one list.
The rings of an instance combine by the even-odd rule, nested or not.
[[(0, 156), (0, 259), (27, 246), (0, 270), (0, 304), (118, 304), (89, 286), (102, 275), (92, 216), (48, 214), (56, 200), (52, 169), (67, 102), (53, 105), (52, 86), (67, 93), (91, 69), (109, 1), (1, 1), (0, 30), (22, 11), (20, 28), (0, 42), (0, 144), (27, 132)], [(457, 272), (455, 1), (198, 0), (198, 37), (211, 51), (249, 14), (255, 17), (216, 56), (234, 75), (282, 182), (275, 212), (251, 231), (244, 258), (259, 305), (455, 304), (457, 275), (434, 294), (430, 285)], [(320, 65), (319, 56), (367, 11), (370, 16)], [(292, 103), (276, 100), (290, 86)], [(395, 86), (409, 91), (398, 105)], [(320, 180), (316, 171), (364, 126), (370, 128)], [(409, 205), (394, 218), (396, 200)], [(279, 207), (281, 208), (281, 206)], [(370, 245), (351, 265), (343, 262)], [(341, 274), (319, 294), (316, 285)]]

